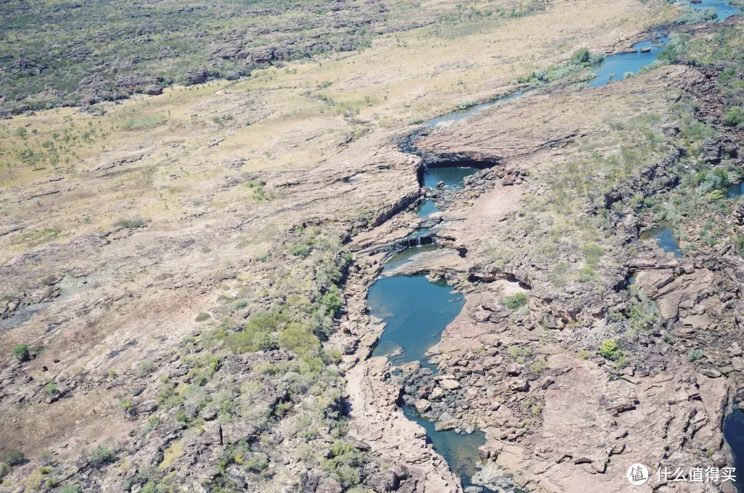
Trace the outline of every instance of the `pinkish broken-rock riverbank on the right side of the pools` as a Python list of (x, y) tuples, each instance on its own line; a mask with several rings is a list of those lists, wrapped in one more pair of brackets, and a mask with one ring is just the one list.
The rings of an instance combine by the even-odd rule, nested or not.
[[(617, 186), (596, 198), (589, 192), (588, 202), (568, 202), (578, 206), (575, 213), (546, 210), (560, 191), (551, 165), (582, 158), (586, 147), (605, 155), (622, 150), (623, 138), (613, 138), (613, 132), (626, 131), (627, 123), (598, 122), (623, 112), (634, 118), (627, 112), (638, 107), (633, 82), (581, 91), (580, 98), (571, 90), (526, 97), (417, 144), (429, 156), (499, 165), (466, 178), (464, 190), (425, 191), (444, 210), (437, 215), (437, 243), (459, 251), (461, 262), (422, 253), (397, 273), (446, 277), (469, 293), (466, 306), (429, 351), (437, 374), (408, 364), (397, 369), (400, 375), (378, 378), (388, 378), (405, 404), (435, 421), (438, 430), (486, 431), (481, 457), (495, 465), (479, 478), (485, 486), (507, 471), (530, 491), (624, 491), (632, 463), (731, 465), (722, 421), (740, 400), (743, 261), (731, 255), (731, 245), (696, 243), (678, 258), (639, 239), (650, 217), (639, 205), (681, 184), (679, 113), (667, 105), (698, 98), (699, 115), (719, 119), (710, 80), (706, 69), (684, 67), (644, 76), (644, 107), (655, 115), (647, 128), (658, 145), (648, 146), (649, 159)], [(589, 108), (594, 113), (574, 117), (573, 126), (562, 120)], [(530, 115), (554, 117), (539, 126), (525, 121)], [(736, 166), (735, 142), (735, 132), (703, 142), (702, 161)], [(541, 201), (542, 216), (536, 208)], [(604, 221), (579, 225), (582, 236), (568, 228), (553, 237), (559, 216), (565, 224), (565, 216), (582, 211), (596, 217), (602, 210), (609, 211)], [(719, 219), (735, 229), (736, 218)], [(410, 231), (414, 224), (401, 224), (401, 231), (405, 226)], [(589, 233), (592, 228), (596, 233)], [(555, 265), (561, 265), (560, 276)], [(352, 294), (351, 313), (355, 307), (364, 313), (364, 286), (370, 282)], [(352, 332), (364, 333), (363, 326)], [(730, 490), (730, 483), (723, 488)]]

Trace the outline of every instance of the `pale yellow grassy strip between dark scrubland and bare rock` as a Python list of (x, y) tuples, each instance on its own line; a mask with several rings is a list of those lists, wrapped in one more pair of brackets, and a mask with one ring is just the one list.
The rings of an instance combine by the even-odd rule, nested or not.
[[(63, 187), (75, 182), (86, 190), (65, 199), (20, 204), (5, 199), (3, 223), (31, 222), (65, 236), (120, 216), (173, 220), (198, 207), (194, 204), (209, 202), (204, 195), (222, 174), (222, 159), (244, 158), (246, 171), (309, 169), (338, 152), (349, 136), (405, 126), (504, 93), (519, 75), (566, 59), (577, 48), (622, 48), (641, 30), (673, 16), (667, 2), (635, 0), (554, 1), (545, 11), (519, 18), (469, 20), (463, 13), (505, 6), (424, 2), (421, 9), (449, 10), (456, 20), (379, 37), (360, 53), (257, 71), (240, 83), (169, 88), (158, 97), (106, 104), (103, 116), (60, 109), (16, 117), (2, 125), (0, 164), (2, 171), (10, 169), (2, 176), (4, 196), (31, 190), (54, 175), (65, 177)], [(154, 128), (127, 128), (132, 121), (158, 117), (164, 123)], [(24, 139), (16, 135), (19, 127), (28, 131)], [(80, 135), (90, 129), (96, 132), (83, 140)], [(44, 153), (45, 141), (59, 148), (52, 135), (63, 137), (65, 130), (79, 137), (60, 152), (59, 170), (22, 164), (20, 151)], [(221, 142), (210, 146), (213, 140)], [(105, 179), (85, 173), (127, 155), (144, 156), (134, 165), (137, 173), (110, 173)], [(211, 203), (219, 207), (225, 201)], [(45, 238), (31, 236), (4, 246), (20, 251)]]

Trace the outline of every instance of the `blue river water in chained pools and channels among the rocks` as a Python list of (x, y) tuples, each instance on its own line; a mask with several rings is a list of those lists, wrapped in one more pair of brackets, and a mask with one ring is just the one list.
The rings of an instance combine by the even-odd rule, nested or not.
[[(719, 20), (738, 12), (738, 9), (719, 0), (703, 0), (702, 4), (693, 4), (693, 8), (696, 9), (705, 7), (715, 7)], [(635, 52), (606, 57), (603, 62), (592, 66), (597, 77), (590, 81), (589, 86), (605, 86), (612, 80), (623, 78), (627, 72), (637, 73), (638, 69), (655, 61), (666, 42), (666, 37), (657, 37), (654, 40), (633, 45), (632, 49), (635, 49)], [(515, 100), (526, 92), (509, 94), (497, 100), (429, 120), (423, 123), (422, 129), (411, 135), (411, 141), (404, 150), (414, 152), (414, 141), (435, 126), (456, 123), (490, 106)], [(463, 179), (476, 171), (478, 171), (476, 167), (434, 167), (424, 171), (422, 184), (424, 187), (434, 188), (437, 183), (443, 181), (450, 190), (457, 190), (462, 188)], [(729, 190), (729, 194), (737, 192), (741, 193), (740, 190)], [(418, 216), (422, 218), (437, 211), (432, 200), (422, 202), (416, 210)], [(420, 236), (426, 232), (425, 229), (419, 230), (411, 236)], [(662, 226), (647, 233), (644, 235), (645, 239), (656, 239), (664, 250), (671, 251), (676, 256), (682, 254), (668, 226)], [(391, 258), (386, 269), (407, 262), (413, 254), (435, 248), (435, 246), (427, 245), (400, 252)], [(391, 363), (395, 365), (420, 361), (423, 367), (436, 371), (436, 368), (429, 364), (425, 355), (426, 351), (437, 344), (443, 330), (452, 320), (455, 320), (464, 304), (464, 297), (449, 289), (446, 282), (432, 283), (423, 274), (379, 278), (369, 291), (368, 306), (371, 315), (384, 320), (386, 326), (373, 355), (388, 355)], [(481, 465), (478, 447), (484, 444), (485, 434), (482, 431), (473, 431), (471, 434), (464, 431), (457, 433), (454, 430), (436, 431), (434, 422), (421, 418), (411, 407), (402, 407), (408, 419), (417, 422), (426, 430), (427, 439), (432, 443), (434, 451), (444, 457), (452, 471), (460, 477), (463, 486), (465, 488), (475, 486), (473, 476), (477, 474), (479, 465)], [(737, 458), (734, 465), (739, 466), (737, 468), (744, 472), (744, 413), (742, 411), (737, 410), (729, 414), (725, 421), (724, 434), (734, 452), (734, 457)], [(493, 480), (493, 478), (490, 479)], [(504, 478), (504, 481), (499, 483), (500, 489), (519, 491), (513, 489), (513, 485), (507, 484), (507, 479)], [(485, 489), (487, 492), (498, 490), (496, 488)]]

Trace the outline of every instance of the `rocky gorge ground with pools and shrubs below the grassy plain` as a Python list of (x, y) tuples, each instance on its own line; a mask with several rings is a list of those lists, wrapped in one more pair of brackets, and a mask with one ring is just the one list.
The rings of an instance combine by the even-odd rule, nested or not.
[[(689, 28), (653, 48), (664, 63), (609, 84), (580, 62), (438, 124), (334, 134), (337, 153), (301, 170), (269, 152), (246, 171), (225, 157), (243, 144), (229, 136), (170, 138), (163, 162), (201, 145), (219, 156), (198, 165), (203, 193), (179, 225), (119, 219), (1, 267), (5, 344), (39, 342), (0, 373), (2, 451), (35, 457), (4, 456), (0, 489), (733, 491), (654, 473), (734, 460), (742, 209), (722, 190), (742, 175), (739, 69), (703, 57), (740, 29)], [(214, 123), (254, 126), (271, 104)], [(292, 153), (325, 138), (292, 131)], [(89, 201), (102, 176), (146, 180), (158, 152), (3, 199)], [(178, 197), (161, 183), (187, 173), (159, 189)], [(657, 225), (679, 245), (647, 239)], [(1, 236), (36, 241), (27, 228)], [(633, 463), (652, 471), (645, 486), (626, 480)]]

